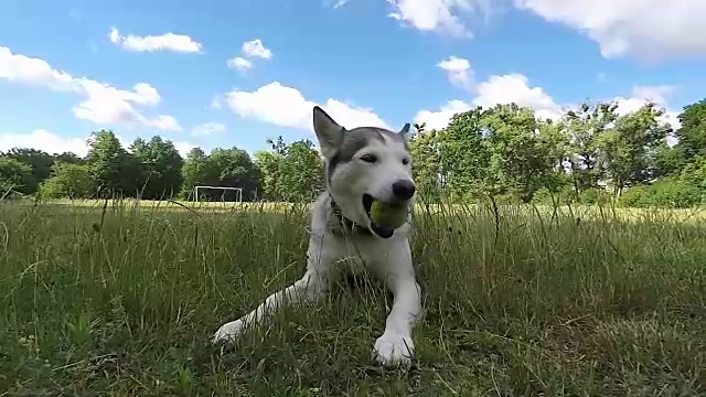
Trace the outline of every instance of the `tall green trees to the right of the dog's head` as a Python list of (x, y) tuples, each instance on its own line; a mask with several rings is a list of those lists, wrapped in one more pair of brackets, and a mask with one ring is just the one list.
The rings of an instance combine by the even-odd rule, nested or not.
[[(558, 120), (514, 104), (457, 114), (413, 138), (416, 173), (432, 200), (688, 207), (706, 201), (706, 99), (683, 108), (674, 130), (645, 103), (584, 103)], [(668, 144), (668, 138), (676, 140)]]

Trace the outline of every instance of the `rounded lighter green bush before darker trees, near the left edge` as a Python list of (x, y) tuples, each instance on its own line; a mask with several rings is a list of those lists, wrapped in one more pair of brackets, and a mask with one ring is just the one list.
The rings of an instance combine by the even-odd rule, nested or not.
[(52, 175), (40, 185), (40, 193), (47, 198), (89, 198), (95, 187), (89, 165), (57, 162)]

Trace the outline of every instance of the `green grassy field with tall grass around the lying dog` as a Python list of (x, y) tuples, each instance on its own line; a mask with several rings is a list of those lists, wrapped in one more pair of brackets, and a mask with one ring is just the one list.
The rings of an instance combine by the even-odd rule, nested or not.
[(206, 343), (300, 276), (303, 207), (104, 204), (0, 202), (0, 396), (706, 396), (700, 213), (418, 207), (404, 371), (368, 279)]

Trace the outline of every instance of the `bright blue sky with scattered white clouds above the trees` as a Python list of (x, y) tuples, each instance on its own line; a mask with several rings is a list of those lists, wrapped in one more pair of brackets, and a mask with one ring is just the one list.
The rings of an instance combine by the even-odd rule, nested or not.
[[(119, 3), (119, 6), (118, 6)], [(85, 151), (90, 131), (182, 151), (346, 127), (442, 127), (516, 101), (543, 117), (584, 99), (665, 121), (706, 92), (706, 2), (673, 0), (8, 0), (0, 150)], [(236, 60), (238, 58), (238, 60)], [(83, 153), (82, 153), (83, 154)]]

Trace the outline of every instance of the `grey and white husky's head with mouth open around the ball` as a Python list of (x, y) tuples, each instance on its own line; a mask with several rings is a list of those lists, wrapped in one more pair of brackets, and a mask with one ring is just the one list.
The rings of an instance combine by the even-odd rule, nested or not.
[(343, 216), (379, 237), (392, 236), (394, 230), (371, 221), (370, 211), (373, 200), (414, 204), (409, 124), (398, 132), (376, 127), (346, 130), (317, 106), (313, 128), (325, 161), (327, 186)]

